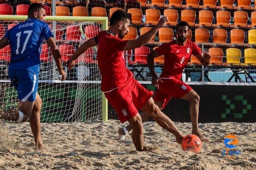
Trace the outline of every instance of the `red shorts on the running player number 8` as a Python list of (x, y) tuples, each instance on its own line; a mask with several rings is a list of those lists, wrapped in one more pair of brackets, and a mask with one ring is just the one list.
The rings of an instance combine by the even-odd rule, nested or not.
[(159, 89), (156, 91), (154, 101), (163, 101), (162, 108), (165, 108), (171, 98), (181, 98), (192, 90), (189, 85), (178, 79), (160, 79), (163, 82), (158, 81)]

